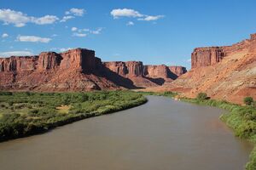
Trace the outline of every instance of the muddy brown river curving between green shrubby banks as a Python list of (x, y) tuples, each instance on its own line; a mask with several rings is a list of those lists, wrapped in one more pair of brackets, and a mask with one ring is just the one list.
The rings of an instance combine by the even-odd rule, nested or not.
[(165, 97), (111, 115), (0, 143), (1, 170), (241, 170), (253, 145), (222, 110)]

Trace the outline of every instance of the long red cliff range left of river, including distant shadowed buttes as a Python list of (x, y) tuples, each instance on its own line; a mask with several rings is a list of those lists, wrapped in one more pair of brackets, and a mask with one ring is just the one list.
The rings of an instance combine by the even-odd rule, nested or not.
[(148, 88), (172, 82), (183, 66), (143, 65), (141, 61), (102, 62), (95, 51), (75, 48), (57, 54), (0, 58), (0, 90), (89, 91)]

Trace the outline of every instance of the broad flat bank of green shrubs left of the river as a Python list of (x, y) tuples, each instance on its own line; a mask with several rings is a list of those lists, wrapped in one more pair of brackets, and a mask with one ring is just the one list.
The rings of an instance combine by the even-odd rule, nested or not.
[(0, 141), (43, 133), (91, 116), (147, 102), (130, 91), (88, 93), (0, 92)]

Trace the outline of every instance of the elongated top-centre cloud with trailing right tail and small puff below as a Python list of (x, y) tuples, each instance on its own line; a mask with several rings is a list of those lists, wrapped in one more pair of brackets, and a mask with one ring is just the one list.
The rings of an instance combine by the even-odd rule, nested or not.
[[(160, 18), (164, 17), (164, 15), (141, 14), (140, 12), (132, 8), (115, 8), (110, 12), (110, 14), (113, 16), (113, 19), (118, 19), (120, 17), (130, 17), (130, 18), (137, 18), (137, 20), (145, 20), (145, 21), (159, 20)], [(127, 26), (132, 26), (132, 25), (127, 25)]]

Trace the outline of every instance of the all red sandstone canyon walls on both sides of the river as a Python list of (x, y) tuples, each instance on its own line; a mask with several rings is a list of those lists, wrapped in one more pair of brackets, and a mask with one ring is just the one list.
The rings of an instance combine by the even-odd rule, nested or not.
[(75, 48), (63, 53), (0, 58), (0, 90), (90, 91), (142, 89), (175, 91), (195, 98), (237, 104), (256, 99), (256, 34), (230, 46), (195, 48), (191, 70), (183, 66), (143, 65), (142, 61), (107, 61), (95, 51)]

